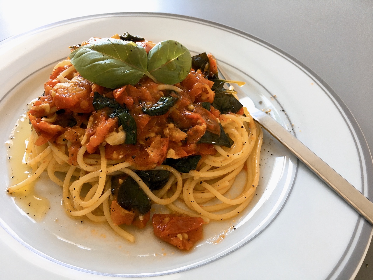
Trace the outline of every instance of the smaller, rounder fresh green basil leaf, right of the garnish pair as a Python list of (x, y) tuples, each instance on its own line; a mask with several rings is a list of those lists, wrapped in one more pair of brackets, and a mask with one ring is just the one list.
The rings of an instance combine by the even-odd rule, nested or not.
[(148, 53), (148, 72), (160, 83), (180, 83), (191, 67), (189, 50), (173, 40), (159, 42)]

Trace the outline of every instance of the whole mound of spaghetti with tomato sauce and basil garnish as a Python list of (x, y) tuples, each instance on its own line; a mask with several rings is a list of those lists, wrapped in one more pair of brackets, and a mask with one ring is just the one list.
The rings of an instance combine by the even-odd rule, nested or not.
[[(109, 223), (130, 242), (131, 227), (153, 226), (182, 250), (202, 238), (203, 224), (247, 207), (262, 132), (211, 54), (128, 33), (70, 49), (27, 113), (32, 174), (9, 193), (46, 171), (68, 215)], [(245, 182), (233, 189), (240, 172)]]

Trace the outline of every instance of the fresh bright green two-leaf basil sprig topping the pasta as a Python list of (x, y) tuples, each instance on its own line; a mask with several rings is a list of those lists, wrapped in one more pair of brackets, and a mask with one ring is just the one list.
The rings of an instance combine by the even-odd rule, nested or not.
[(159, 42), (147, 55), (133, 41), (103, 38), (74, 50), (70, 60), (82, 77), (107, 88), (135, 85), (144, 75), (156, 83), (176, 84), (191, 69), (188, 49), (173, 40)]

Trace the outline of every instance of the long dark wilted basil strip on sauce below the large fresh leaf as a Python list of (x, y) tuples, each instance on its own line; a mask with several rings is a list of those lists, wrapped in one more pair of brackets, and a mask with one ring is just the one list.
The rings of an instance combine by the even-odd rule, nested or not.
[(137, 143), (137, 127), (135, 119), (129, 114), (128, 109), (122, 107), (115, 99), (101, 96), (97, 91), (93, 97), (93, 107), (96, 110), (110, 108), (108, 115), (110, 118), (118, 117), (118, 126), (123, 125), (126, 133), (126, 144)]

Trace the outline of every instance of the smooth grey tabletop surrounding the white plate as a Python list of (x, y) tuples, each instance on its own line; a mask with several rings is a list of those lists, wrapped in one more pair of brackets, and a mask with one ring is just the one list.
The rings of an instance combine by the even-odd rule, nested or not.
[[(373, 150), (371, 0), (107, 0), (100, 5), (0, 0), (0, 41), (57, 21), (112, 12), (192, 16), (269, 42), (308, 66), (341, 97)], [(373, 279), (373, 245), (355, 279)]]

